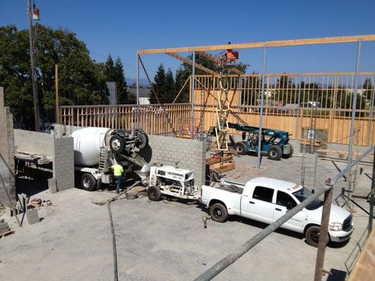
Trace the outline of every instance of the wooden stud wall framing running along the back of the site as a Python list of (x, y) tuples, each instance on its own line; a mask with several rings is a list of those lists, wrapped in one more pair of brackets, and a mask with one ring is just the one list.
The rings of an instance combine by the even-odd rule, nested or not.
[[(326, 134), (327, 143), (348, 144), (350, 131), (351, 98), (354, 73), (304, 73), (266, 74), (264, 126), (280, 129), (292, 134), (292, 138), (303, 140), (306, 129), (311, 126), (312, 110), (310, 101), (319, 102), (314, 112), (316, 129)], [(241, 75), (241, 89), (238, 89), (238, 75), (229, 75), (229, 99), (233, 100), (229, 122), (241, 122), (250, 126), (259, 125), (260, 74)], [(286, 77), (290, 83), (280, 86)], [(285, 78), (285, 79), (286, 79)], [(375, 143), (375, 99), (374, 89), (364, 89), (364, 81), (370, 79), (375, 85), (375, 72), (360, 72), (358, 85), (360, 96), (355, 117), (355, 144)], [(188, 79), (190, 81), (190, 79)], [(186, 82), (187, 84), (187, 82)], [(235, 89), (237, 89), (235, 93)], [(147, 133), (191, 134), (191, 122), (198, 131), (207, 131), (217, 122), (217, 78), (212, 75), (196, 75), (194, 111), (198, 118), (191, 119), (191, 103), (166, 105), (140, 105), (140, 126)], [(298, 105), (298, 93), (300, 104)], [(367, 96), (363, 93), (367, 92)], [(319, 94), (317, 94), (319, 93)], [(367, 100), (364, 100), (366, 98)], [(299, 113), (298, 113), (299, 112)], [(371, 112), (372, 115), (371, 115)], [(135, 128), (136, 105), (89, 105), (61, 106), (61, 124), (75, 126), (105, 126), (115, 129)], [(195, 130), (194, 129), (194, 130)], [(229, 133), (236, 133), (230, 129)]]

